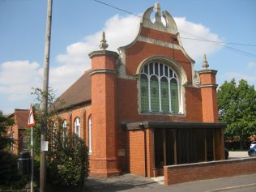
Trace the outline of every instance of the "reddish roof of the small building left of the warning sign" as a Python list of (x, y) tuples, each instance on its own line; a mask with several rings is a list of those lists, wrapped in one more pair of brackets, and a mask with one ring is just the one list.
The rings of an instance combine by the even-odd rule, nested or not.
[(25, 129), (28, 127), (29, 109), (15, 109), (14, 116), (18, 129)]

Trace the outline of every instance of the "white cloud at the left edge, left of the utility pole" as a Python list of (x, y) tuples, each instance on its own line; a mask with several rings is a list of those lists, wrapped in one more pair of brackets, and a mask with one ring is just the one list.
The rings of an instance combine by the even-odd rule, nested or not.
[(0, 69), (0, 93), (6, 94), (10, 101), (28, 99), (31, 88), (41, 83), (42, 71), (38, 62), (3, 62)]

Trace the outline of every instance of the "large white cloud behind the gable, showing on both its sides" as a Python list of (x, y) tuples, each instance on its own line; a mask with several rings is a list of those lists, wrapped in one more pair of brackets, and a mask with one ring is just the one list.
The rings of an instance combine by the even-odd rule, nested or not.
[[(187, 21), (186, 18), (174, 18), (177, 22), (177, 28), (181, 30), (181, 37), (188, 37), (184, 32), (190, 32), (196, 36), (201, 36), (210, 41), (220, 41), (220, 38), (215, 33), (212, 33), (209, 28), (202, 24)], [(85, 36), (83, 41), (76, 42), (66, 47), (66, 53), (57, 56), (57, 62), (62, 63), (62, 66), (53, 68), (50, 71), (52, 87), (58, 87), (59, 92), (65, 91), (66, 87), (70, 86), (70, 82), (74, 82), (84, 70), (91, 68), (91, 60), (87, 56), (93, 50), (97, 50), (100, 42), (100, 34), (105, 31), (109, 50), (117, 51), (120, 46), (128, 45), (134, 41), (139, 32), (139, 17), (129, 15), (122, 17), (114, 15), (105, 22), (105, 27), (92, 35)], [(191, 36), (190, 36), (191, 37)], [(194, 38), (194, 37), (193, 37)], [(184, 48), (190, 57), (194, 60), (203, 57), (203, 53), (210, 54), (220, 47), (212, 43), (203, 41), (192, 41), (181, 39)]]

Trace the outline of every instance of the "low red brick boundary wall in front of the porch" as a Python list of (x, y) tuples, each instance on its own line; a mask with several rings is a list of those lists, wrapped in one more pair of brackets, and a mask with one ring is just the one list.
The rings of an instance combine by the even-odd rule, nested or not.
[(164, 185), (256, 173), (256, 157), (164, 166)]

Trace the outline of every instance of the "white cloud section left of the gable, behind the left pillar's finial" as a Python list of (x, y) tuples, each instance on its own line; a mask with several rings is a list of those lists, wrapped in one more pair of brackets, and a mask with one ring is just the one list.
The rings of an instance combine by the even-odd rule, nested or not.
[(91, 68), (91, 59), (88, 53), (98, 50), (101, 32), (105, 31), (109, 50), (117, 51), (122, 45), (127, 45), (134, 40), (139, 31), (139, 18), (130, 15), (121, 17), (114, 15), (105, 22), (105, 27), (92, 35), (85, 36), (83, 41), (76, 42), (66, 47), (66, 53), (56, 57), (62, 66), (50, 70), (50, 85), (58, 92), (64, 92), (85, 70)]

